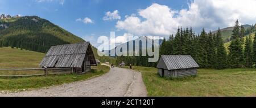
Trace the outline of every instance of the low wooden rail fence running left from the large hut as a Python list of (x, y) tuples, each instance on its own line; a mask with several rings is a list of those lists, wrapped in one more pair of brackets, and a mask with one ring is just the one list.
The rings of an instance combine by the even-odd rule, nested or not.
[[(0, 71), (36, 71), (43, 70), (44, 74), (33, 74), (33, 75), (0, 75), (0, 77), (24, 77), (24, 76), (47, 76), (57, 74), (72, 74), (72, 68), (8, 68), (0, 69)], [(51, 73), (49, 71), (52, 71)]]

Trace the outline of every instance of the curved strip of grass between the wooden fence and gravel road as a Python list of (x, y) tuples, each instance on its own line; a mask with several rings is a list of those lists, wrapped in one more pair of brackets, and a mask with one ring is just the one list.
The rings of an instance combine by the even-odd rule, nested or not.
[(107, 66), (97, 66), (97, 70), (92, 70), (86, 74), (77, 75), (50, 75), (38, 77), (16, 77), (16, 78), (0, 78), (0, 90), (23, 90), (31, 88), (50, 87), (52, 85), (61, 85), (74, 81), (87, 80), (92, 77), (100, 76), (109, 72)]

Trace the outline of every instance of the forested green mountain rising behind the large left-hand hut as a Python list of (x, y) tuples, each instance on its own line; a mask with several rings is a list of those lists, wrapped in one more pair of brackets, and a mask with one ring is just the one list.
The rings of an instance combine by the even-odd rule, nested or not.
[[(46, 53), (51, 46), (84, 42), (82, 38), (38, 16), (0, 19), (0, 47), (20, 47), (31, 51)], [(100, 61), (114, 61), (114, 58), (99, 57)]]

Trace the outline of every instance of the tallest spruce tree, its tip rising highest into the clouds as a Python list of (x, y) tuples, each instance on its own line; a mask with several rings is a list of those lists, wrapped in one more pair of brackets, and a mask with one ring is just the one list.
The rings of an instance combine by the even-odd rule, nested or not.
[(229, 64), (232, 68), (242, 67), (243, 64), (243, 47), (240, 39), (240, 25), (239, 21), (236, 21), (236, 25), (233, 28), (232, 41), (229, 46)]

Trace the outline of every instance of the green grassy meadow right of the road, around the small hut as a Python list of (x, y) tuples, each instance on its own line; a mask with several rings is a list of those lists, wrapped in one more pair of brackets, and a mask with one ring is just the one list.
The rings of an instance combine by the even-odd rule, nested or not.
[(133, 68), (142, 72), (148, 96), (256, 96), (256, 69), (199, 69), (197, 77), (168, 79), (156, 68)]

